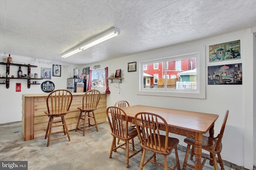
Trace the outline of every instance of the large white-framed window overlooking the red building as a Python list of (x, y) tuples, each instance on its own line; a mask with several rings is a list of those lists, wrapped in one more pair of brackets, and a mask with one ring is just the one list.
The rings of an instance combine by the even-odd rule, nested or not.
[[(205, 99), (205, 47), (198, 49), (198, 52), (141, 61), (138, 94)], [(147, 85), (146, 80), (150, 81)]]

